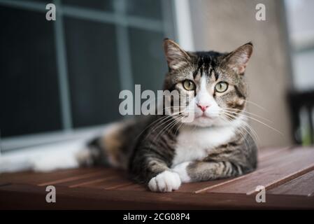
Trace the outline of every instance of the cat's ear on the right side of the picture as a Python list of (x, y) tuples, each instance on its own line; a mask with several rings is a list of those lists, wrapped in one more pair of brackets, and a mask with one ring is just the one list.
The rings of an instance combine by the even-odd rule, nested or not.
[(245, 43), (224, 57), (224, 62), (238, 74), (243, 74), (253, 52), (251, 42)]

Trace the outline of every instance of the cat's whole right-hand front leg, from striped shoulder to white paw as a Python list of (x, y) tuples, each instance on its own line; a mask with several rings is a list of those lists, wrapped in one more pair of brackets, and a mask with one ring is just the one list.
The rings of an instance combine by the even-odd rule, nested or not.
[(257, 167), (257, 147), (252, 139), (238, 139), (214, 148), (204, 160), (183, 162), (173, 171), (183, 183), (239, 176)]

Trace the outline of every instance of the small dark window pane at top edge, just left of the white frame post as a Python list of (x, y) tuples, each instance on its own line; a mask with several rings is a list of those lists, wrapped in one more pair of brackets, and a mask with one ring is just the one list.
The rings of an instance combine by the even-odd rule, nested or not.
[(162, 19), (162, 1), (132, 0), (127, 2), (127, 14), (145, 18)]

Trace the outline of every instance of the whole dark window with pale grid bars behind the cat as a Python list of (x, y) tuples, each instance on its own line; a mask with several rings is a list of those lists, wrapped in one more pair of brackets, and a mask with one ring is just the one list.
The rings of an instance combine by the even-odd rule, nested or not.
[[(87, 136), (120, 119), (120, 90), (157, 90), (172, 1), (0, 0), (1, 150)], [(98, 128), (99, 127), (99, 128)]]

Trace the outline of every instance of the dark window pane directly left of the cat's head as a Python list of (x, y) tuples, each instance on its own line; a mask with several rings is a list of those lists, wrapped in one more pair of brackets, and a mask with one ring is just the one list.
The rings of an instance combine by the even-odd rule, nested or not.
[(129, 29), (134, 84), (141, 84), (141, 90), (162, 90), (167, 71), (163, 38), (163, 34), (155, 31)]

